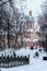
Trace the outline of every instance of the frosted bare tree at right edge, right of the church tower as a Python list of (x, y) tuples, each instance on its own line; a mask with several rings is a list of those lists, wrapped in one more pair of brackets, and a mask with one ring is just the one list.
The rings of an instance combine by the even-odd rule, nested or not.
[(42, 4), (42, 14), (38, 15), (38, 24), (40, 25), (42, 33), (46, 36), (47, 50), (47, 0)]

